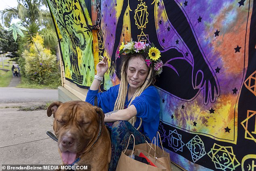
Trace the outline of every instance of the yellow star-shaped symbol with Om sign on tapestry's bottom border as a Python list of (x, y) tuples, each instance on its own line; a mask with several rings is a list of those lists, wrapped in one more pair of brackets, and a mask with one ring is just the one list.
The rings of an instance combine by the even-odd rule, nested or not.
[(231, 146), (225, 147), (214, 143), (210, 152), (207, 154), (212, 159), (216, 169), (233, 171), (240, 165), (239, 161), (235, 158), (235, 154)]

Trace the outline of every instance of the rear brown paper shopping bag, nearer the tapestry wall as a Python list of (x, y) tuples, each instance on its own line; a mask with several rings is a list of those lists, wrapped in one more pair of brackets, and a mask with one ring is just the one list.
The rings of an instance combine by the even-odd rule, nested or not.
[(171, 161), (170, 161), (170, 154), (168, 152), (164, 151), (164, 148), (163, 148), (163, 145), (162, 145), (162, 140), (161, 140), (159, 132), (157, 132), (156, 140), (158, 139), (158, 135), (159, 135), (159, 140), (160, 140), (162, 148), (160, 148), (158, 146), (158, 141), (157, 141), (157, 143), (155, 143), (156, 145), (153, 144), (153, 142), (155, 142), (155, 137), (153, 138), (151, 144), (146, 142), (146, 143), (143, 143), (143, 144), (135, 145), (135, 148), (148, 152), (149, 154), (151, 154), (152, 156), (157, 158), (157, 162), (160, 163), (161, 165), (163, 165), (164, 167), (166, 167), (167, 171), (172, 171)]

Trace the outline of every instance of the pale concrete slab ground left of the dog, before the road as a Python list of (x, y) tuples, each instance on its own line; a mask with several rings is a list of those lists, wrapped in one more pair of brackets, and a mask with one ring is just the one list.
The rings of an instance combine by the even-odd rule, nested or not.
[(46, 111), (0, 109), (0, 165), (61, 164), (57, 142), (46, 135), (52, 118)]

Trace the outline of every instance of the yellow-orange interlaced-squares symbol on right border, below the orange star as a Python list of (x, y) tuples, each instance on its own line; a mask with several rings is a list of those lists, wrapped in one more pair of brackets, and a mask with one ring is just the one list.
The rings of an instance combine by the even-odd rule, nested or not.
[[(253, 140), (256, 142), (256, 111), (247, 111), (247, 117), (241, 122), (241, 125), (245, 129), (244, 138)], [(248, 126), (254, 125), (254, 126)]]

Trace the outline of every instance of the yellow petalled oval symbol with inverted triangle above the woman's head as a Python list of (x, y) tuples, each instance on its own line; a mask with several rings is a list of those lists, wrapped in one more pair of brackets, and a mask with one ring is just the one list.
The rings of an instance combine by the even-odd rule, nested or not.
[(143, 28), (146, 28), (146, 24), (149, 22), (147, 17), (149, 16), (149, 13), (147, 12), (147, 6), (144, 3), (140, 3), (137, 6), (137, 9), (135, 10), (135, 24), (138, 26), (138, 29), (143, 30)]

